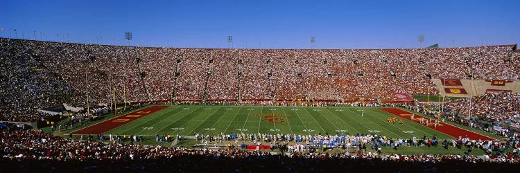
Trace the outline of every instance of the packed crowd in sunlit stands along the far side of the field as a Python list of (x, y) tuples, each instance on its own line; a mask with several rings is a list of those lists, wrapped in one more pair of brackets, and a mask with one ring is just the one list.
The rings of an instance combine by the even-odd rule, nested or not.
[(110, 104), (114, 101), (114, 93), (117, 102), (392, 102), (396, 99), (393, 93), (438, 93), (431, 78), (467, 78), (469, 75), (479, 79), (520, 78), (520, 54), (513, 53), (512, 46), (384, 50), (211, 49), (101, 46), (20, 39), (1, 39), (0, 44), (1, 78), (5, 79), (1, 84), (6, 88), (1, 91), (5, 107), (1, 110), (2, 119), (12, 120), (19, 115), (35, 116), (34, 111), (28, 113), (26, 110), (47, 104), (67, 102), (82, 107)]

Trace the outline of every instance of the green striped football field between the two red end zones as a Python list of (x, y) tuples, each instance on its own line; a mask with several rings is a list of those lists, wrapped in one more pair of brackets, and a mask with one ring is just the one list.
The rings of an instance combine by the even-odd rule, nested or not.
[[(363, 116), (362, 116), (363, 113)], [(392, 114), (372, 107), (242, 107), (174, 105), (105, 134), (379, 134), (389, 138), (453, 137), (410, 120), (387, 122)]]

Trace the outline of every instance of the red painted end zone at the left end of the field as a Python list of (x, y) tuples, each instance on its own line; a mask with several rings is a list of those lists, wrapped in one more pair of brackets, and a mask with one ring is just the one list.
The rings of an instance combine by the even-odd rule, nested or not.
[(72, 132), (72, 134), (102, 134), (105, 131), (109, 131), (110, 129), (114, 129), (121, 125), (125, 125), (126, 123), (132, 122), (133, 120), (137, 120), (141, 117), (148, 116), (166, 107), (168, 106), (152, 106), (147, 107), (145, 109), (141, 109), (139, 111), (133, 111), (132, 113), (126, 113), (123, 116), (117, 116), (116, 118), (106, 120), (96, 125), (79, 129), (78, 131)]

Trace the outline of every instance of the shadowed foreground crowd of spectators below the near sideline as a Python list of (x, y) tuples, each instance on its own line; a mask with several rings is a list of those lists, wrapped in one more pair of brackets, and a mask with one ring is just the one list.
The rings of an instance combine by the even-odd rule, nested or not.
[(279, 154), (238, 148), (191, 149), (103, 143), (93, 138), (77, 140), (56, 137), (38, 130), (2, 131), (0, 138), (0, 166), (4, 167), (4, 171), (21, 172), (329, 172), (360, 168), (385, 172), (389, 169), (401, 172), (464, 172), (476, 171), (476, 168), (496, 171), (519, 166), (519, 156), (513, 153), (483, 156), (474, 156), (471, 152), (462, 155), (377, 154), (370, 149), (361, 152), (360, 147), (358, 152), (353, 153), (293, 150), (288, 154)]

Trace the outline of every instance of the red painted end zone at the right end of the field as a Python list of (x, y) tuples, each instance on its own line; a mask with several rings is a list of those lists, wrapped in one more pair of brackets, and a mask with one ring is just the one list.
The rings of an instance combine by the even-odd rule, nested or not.
[[(402, 118), (411, 120), (412, 113), (410, 113), (408, 111), (403, 111), (403, 110), (397, 109), (397, 108), (379, 108), (379, 109), (392, 113), (396, 116), (400, 116)], [(412, 120), (412, 121), (419, 123), (419, 120), (417, 120), (417, 119), (421, 118), (421, 117), (423, 117), (424, 119), (429, 119), (425, 116), (419, 116), (419, 115), (415, 114), (414, 118), (413, 118), (414, 120)], [(449, 125), (444, 122), (439, 122), (439, 125), (437, 126), (437, 128), (433, 127), (433, 125), (428, 125), (427, 127), (429, 127), (430, 129), (435, 129), (437, 131), (440, 131), (449, 136), (453, 136), (453, 138), (458, 138), (458, 136), (462, 136), (462, 138), (465, 138), (467, 136), (470, 139), (496, 140), (494, 138), (489, 138), (487, 136), (483, 136), (481, 134), (474, 133), (473, 131), (469, 131), (467, 129), (461, 129), (460, 127)]]

